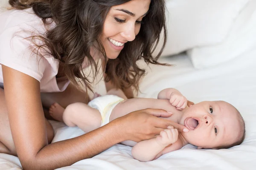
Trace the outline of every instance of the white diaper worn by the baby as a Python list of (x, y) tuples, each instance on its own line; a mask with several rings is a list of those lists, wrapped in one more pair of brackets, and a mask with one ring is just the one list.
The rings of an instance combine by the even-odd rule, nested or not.
[(119, 96), (115, 95), (105, 95), (100, 96), (88, 103), (88, 106), (98, 109), (102, 116), (102, 125), (104, 126), (109, 123), (110, 115), (113, 111), (113, 108), (119, 103), (122, 102), (122, 99)]

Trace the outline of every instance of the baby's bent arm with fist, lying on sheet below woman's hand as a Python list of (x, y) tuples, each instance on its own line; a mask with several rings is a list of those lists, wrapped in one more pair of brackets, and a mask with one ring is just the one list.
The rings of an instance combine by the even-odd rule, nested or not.
[(167, 146), (171, 147), (168, 147), (169, 152), (172, 151), (172, 149), (175, 149), (175, 145), (173, 144), (177, 142), (177, 139), (178, 130), (169, 126), (168, 129), (161, 131), (157, 138), (137, 143), (131, 150), (132, 156), (139, 161), (152, 161), (161, 156), (163, 154), (162, 151)]

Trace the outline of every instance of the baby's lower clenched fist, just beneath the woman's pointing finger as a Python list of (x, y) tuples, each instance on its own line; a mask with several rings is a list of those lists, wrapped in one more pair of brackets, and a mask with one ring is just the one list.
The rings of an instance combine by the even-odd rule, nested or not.
[(173, 126), (168, 126), (167, 129), (160, 132), (160, 135), (157, 136), (157, 144), (162, 147), (166, 147), (169, 144), (173, 144), (178, 139), (178, 130), (174, 129)]

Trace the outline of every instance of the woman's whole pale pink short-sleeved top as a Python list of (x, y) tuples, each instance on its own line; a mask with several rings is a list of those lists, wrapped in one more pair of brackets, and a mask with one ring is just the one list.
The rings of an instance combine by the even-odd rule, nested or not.
[[(54, 25), (52, 23), (49, 28)], [(41, 55), (32, 52), (35, 45), (27, 37), (45, 36), (46, 31), (43, 21), (34, 14), (32, 8), (9, 10), (0, 14), (0, 83), (3, 83), (3, 64), (37, 79), (41, 92), (59, 92), (67, 88), (69, 81), (56, 79), (58, 60), (44, 55), (43, 50), (38, 51)], [(33, 41), (43, 44), (38, 39)]]

